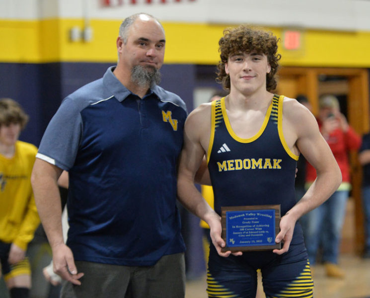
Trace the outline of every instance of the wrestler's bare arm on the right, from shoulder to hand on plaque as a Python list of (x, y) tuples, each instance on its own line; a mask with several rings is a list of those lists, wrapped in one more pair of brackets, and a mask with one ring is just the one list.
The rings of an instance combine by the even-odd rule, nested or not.
[(290, 149), (296, 153), (300, 151), (316, 169), (317, 178), (305, 195), (282, 217), (281, 231), (276, 241), (284, 241), (284, 245), (282, 249), (274, 250), (277, 254), (288, 251), (296, 221), (327, 200), (342, 181), (339, 166), (319, 131), (316, 119), (308, 109), (292, 99), (284, 103), (283, 132)]

